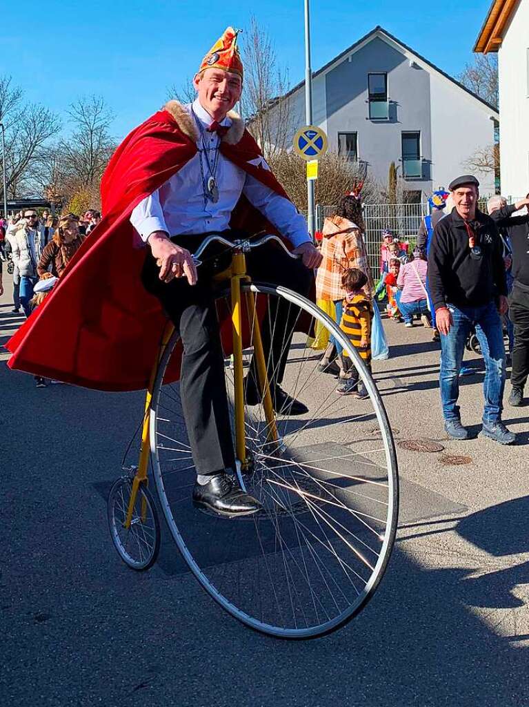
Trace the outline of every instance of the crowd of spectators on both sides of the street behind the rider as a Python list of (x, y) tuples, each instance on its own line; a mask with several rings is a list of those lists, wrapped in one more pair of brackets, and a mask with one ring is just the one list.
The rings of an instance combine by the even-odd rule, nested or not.
[[(509, 205), (503, 197), (491, 197), (487, 215), (477, 208), (478, 187), (470, 175), (454, 180), (453, 208), (448, 213), (444, 212), (448, 192), (434, 192), (432, 213), (423, 219), (412, 252), (408, 242), (384, 230), (378, 283), (369, 267), (361, 199), (356, 192), (346, 194), (319, 234), (323, 261), (316, 273), (316, 297), (369, 366), (372, 327), (378, 315), (374, 303), (380, 298), (387, 299), (391, 320), (412, 327), (417, 319), (434, 329), (434, 340), (441, 340), (445, 428), (454, 439), (468, 437), (457, 406), (458, 377), (464, 368), (465, 339), (474, 333), (480, 339), (486, 368), (483, 433), (511, 443), (514, 436), (501, 423), (508, 361), (504, 333), (512, 361), (509, 402), (517, 406), (523, 403), (529, 377), (529, 214), (513, 214), (529, 206), (529, 198)], [(35, 209), (26, 209), (7, 220), (0, 218), (0, 294), (4, 291), (1, 263), (12, 259), (13, 312), (22, 308), (25, 316), (30, 315), (45, 297), (42, 287), (35, 296), (37, 282), (61, 278), (100, 218), (95, 209), (81, 217), (58, 217), (48, 211), (39, 216)], [(341, 394), (364, 397), (355, 367), (334, 338), (328, 342), (320, 368), (341, 379)], [(37, 379), (37, 385), (43, 387), (46, 382)]]

